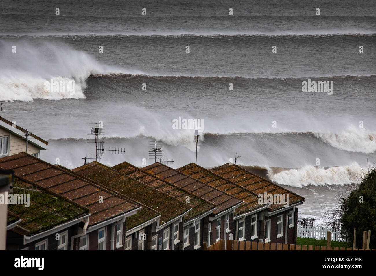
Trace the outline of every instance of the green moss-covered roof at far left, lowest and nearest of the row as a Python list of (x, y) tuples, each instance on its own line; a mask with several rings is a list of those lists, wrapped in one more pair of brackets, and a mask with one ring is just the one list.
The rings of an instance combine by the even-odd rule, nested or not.
[[(25, 207), (24, 204), (8, 205), (8, 225), (14, 220), (22, 219), (13, 229), (20, 234), (34, 235), (89, 214), (87, 208), (37, 187), (30, 181), (15, 177), (13, 186), (13, 194), (30, 194), (29, 207)], [(20, 190), (16, 187), (39, 192)]]

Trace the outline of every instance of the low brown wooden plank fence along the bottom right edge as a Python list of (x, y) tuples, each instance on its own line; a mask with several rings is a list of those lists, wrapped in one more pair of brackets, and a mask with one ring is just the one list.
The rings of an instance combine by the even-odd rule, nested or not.
[[(219, 240), (209, 247), (203, 244), (203, 250), (370, 250), (351, 247), (313, 246), (285, 243), (259, 243), (257, 241)], [(375, 250), (375, 249), (373, 249)]]

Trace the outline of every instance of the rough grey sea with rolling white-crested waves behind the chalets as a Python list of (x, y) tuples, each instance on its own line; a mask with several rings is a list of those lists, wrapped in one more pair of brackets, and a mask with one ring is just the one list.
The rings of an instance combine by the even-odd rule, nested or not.
[[(146, 166), (157, 144), (184, 166), (194, 128), (173, 122), (197, 119), (197, 164), (240, 155), (324, 223), (376, 161), (375, 15), (369, 0), (2, 0), (0, 116), (70, 169), (95, 158), (96, 123), (98, 147), (120, 148), (101, 163)], [(50, 80), (75, 91), (46, 91)]]

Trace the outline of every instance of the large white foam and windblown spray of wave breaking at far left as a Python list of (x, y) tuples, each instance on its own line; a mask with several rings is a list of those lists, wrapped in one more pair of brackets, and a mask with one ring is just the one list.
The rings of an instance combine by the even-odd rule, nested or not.
[[(0, 49), (12, 49), (12, 45), (0, 42)], [(0, 101), (82, 99), (86, 79), (91, 74), (132, 73), (102, 65), (65, 44), (18, 42), (16, 50), (16, 53), (0, 51)], [(75, 93), (45, 91), (44, 82), (51, 79), (75, 81)]]

